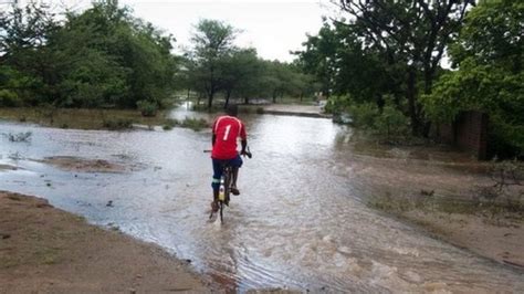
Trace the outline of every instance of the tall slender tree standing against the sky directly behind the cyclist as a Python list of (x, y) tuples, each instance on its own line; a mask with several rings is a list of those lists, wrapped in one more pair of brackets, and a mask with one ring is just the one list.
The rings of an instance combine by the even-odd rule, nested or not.
[(208, 97), (208, 108), (211, 108), (214, 94), (220, 90), (220, 62), (233, 52), (233, 41), (237, 30), (233, 27), (217, 20), (202, 20), (192, 35), (193, 49), (193, 81), (201, 81), (200, 85)]

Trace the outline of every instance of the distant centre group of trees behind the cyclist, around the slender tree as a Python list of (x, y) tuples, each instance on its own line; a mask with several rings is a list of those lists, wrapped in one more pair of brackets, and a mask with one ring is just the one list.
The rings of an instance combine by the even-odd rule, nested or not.
[(312, 97), (316, 90), (313, 76), (294, 64), (268, 61), (256, 50), (234, 45), (239, 31), (228, 23), (202, 20), (192, 35), (192, 50), (185, 55), (181, 78), (188, 88), (200, 93), (211, 107), (217, 94), (224, 106), (234, 97), (269, 98), (273, 103), (284, 95)]

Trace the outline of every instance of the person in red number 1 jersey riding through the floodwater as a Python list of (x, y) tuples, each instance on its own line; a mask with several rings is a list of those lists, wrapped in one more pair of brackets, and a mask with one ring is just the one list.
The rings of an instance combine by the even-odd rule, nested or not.
[[(231, 183), (231, 193), (240, 195), (237, 188), (237, 178), (239, 175), (239, 168), (242, 166), (242, 158), (240, 155), (247, 155), (245, 147), (248, 146), (248, 134), (245, 126), (238, 117), (238, 106), (230, 104), (226, 108), (226, 115), (219, 116), (213, 123), (212, 129), (212, 151), (211, 159), (213, 162), (213, 179), (211, 187), (213, 188), (213, 201), (211, 202), (211, 209), (216, 212), (219, 209), (219, 188), (220, 177), (222, 177), (222, 166), (231, 165), (233, 167), (233, 179)], [(237, 151), (237, 139), (240, 137), (242, 149)], [(229, 199), (226, 199), (226, 204), (229, 203)]]

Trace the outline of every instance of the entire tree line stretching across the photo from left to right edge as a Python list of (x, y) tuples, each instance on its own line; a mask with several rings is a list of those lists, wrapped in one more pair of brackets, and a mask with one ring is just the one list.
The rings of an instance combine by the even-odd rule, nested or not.
[(172, 35), (116, 0), (63, 18), (12, 8), (0, 12), (0, 106), (155, 113), (177, 91), (208, 108), (322, 92), (332, 111), (388, 134), (428, 137), (463, 111), (485, 112), (491, 153), (524, 156), (522, 1), (331, 1), (340, 17), (325, 18), (291, 64), (237, 46), (239, 30), (221, 21), (200, 21), (190, 50), (174, 54)]

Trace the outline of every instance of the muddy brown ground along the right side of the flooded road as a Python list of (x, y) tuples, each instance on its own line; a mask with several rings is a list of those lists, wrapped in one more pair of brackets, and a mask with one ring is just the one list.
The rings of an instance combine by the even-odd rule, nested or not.
[[(486, 191), (497, 191), (491, 162), (449, 151), (421, 153), (436, 159), (420, 159), (417, 150), (408, 148), (391, 153), (396, 154), (389, 158), (355, 156), (349, 164), (348, 172), (367, 187), (373, 208), (422, 227), (434, 238), (524, 270), (524, 186), (509, 186), (499, 196), (488, 197)], [(510, 197), (515, 200), (512, 206)]]

